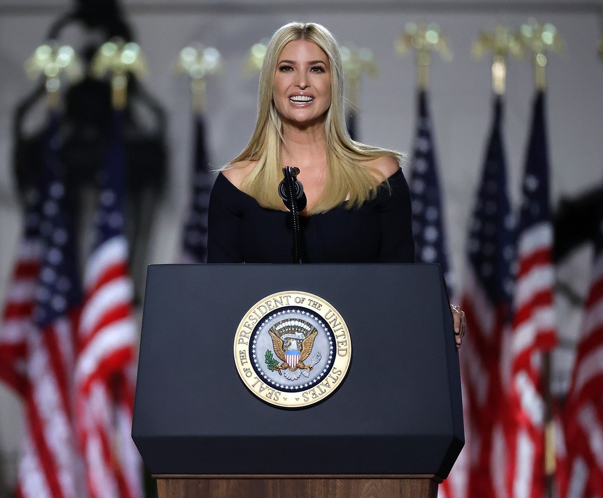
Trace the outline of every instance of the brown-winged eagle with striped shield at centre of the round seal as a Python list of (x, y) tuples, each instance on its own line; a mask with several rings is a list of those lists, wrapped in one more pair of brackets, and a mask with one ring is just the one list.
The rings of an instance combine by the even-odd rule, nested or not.
[(296, 380), (301, 374), (309, 377), (310, 371), (322, 358), (319, 351), (309, 365), (304, 363), (312, 353), (314, 339), (318, 335), (316, 327), (305, 320), (293, 318), (274, 324), (268, 333), (272, 338), (274, 353), (282, 361), (280, 365), (275, 362), (273, 369), (279, 375), (284, 374), (288, 380)]

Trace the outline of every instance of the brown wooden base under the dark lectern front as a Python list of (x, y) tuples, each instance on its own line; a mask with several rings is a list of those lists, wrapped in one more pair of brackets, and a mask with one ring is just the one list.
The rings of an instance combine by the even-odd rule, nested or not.
[(156, 475), (159, 498), (436, 498), (431, 475)]

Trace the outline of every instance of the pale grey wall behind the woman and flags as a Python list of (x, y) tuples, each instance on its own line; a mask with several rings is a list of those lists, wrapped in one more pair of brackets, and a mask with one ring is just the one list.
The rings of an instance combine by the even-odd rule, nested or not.
[[(498, 23), (519, 27), (532, 15), (552, 22), (566, 39), (566, 51), (549, 57), (548, 122), (552, 168), (552, 200), (573, 195), (603, 180), (603, 62), (596, 57), (601, 35), (603, 2), (500, 2), (458, 0), (438, 2), (349, 2), (326, 0), (295, 7), (285, 0), (212, 2), (182, 0), (125, 2), (134, 33), (147, 55), (148, 89), (162, 102), (169, 119), (169, 182), (160, 201), (149, 262), (172, 262), (180, 244), (182, 217), (188, 200), (191, 162), (191, 120), (187, 83), (176, 80), (171, 65), (180, 48), (198, 40), (216, 46), (224, 71), (207, 82), (209, 151), (215, 166), (223, 165), (244, 147), (254, 124), (257, 79), (242, 76), (250, 46), (290, 20), (326, 25), (339, 42), (373, 49), (378, 80), (365, 79), (359, 96), (359, 138), (367, 143), (408, 150), (414, 127), (414, 59), (394, 53), (394, 39), (408, 21), (434, 21), (450, 39), (454, 58), (434, 57), (431, 111), (443, 184), (446, 226), (452, 267), (458, 281), (463, 271), (467, 218), (478, 181), (490, 126), (490, 64), (472, 60), (470, 48), (480, 30)], [(43, 42), (48, 26), (68, 2), (0, 1), (0, 302), (12, 268), (21, 229), (11, 173), (11, 116), (14, 106), (32, 87), (23, 62)], [(81, 33), (69, 28), (62, 41), (77, 45)], [(514, 206), (528, 134), (533, 95), (532, 66), (508, 66), (505, 142)], [(579, 251), (560, 278), (586, 292), (589, 251)], [(579, 315), (558, 300), (560, 330), (575, 337)], [(555, 356), (557, 388), (563, 389), (571, 353)], [(0, 386), (0, 455), (2, 474), (14, 479), (14, 458), (22, 430), (19, 403)]]

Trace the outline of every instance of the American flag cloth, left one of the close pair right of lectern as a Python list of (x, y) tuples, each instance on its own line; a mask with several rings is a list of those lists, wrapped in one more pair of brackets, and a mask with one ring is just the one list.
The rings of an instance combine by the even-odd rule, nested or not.
[(507, 498), (507, 412), (509, 382), (505, 348), (511, 331), (514, 216), (507, 194), (500, 96), (473, 206), (461, 306), (467, 334), (461, 348), (466, 444), (444, 491), (449, 498)]

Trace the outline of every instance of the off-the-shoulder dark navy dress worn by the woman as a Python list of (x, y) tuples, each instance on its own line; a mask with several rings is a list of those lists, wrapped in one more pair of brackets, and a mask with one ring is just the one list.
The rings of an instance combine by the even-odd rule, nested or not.
[[(411, 198), (402, 169), (359, 209), (300, 216), (303, 263), (413, 263)], [(209, 198), (208, 263), (290, 263), (289, 213), (261, 207), (222, 173)]]

